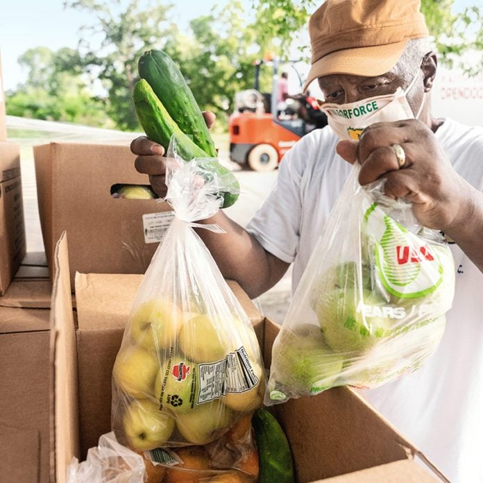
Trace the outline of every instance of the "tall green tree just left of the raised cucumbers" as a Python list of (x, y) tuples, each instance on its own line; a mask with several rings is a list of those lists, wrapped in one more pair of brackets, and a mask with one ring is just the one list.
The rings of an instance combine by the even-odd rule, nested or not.
[(132, 99), (137, 60), (145, 50), (162, 49), (177, 27), (167, 17), (171, 4), (151, 0), (124, 3), (76, 0), (67, 1), (65, 6), (92, 13), (93, 24), (80, 32), (81, 65), (101, 80), (107, 92), (106, 110), (117, 126), (138, 130)]

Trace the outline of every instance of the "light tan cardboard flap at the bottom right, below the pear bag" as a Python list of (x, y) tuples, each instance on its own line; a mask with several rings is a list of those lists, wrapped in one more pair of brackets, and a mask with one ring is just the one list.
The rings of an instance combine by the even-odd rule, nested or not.
[(319, 481), (323, 483), (435, 483), (439, 480), (418, 466), (415, 461), (405, 459)]

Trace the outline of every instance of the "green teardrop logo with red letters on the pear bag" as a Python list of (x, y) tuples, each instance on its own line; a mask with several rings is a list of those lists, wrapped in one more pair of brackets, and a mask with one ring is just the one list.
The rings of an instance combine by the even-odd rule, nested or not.
[(375, 265), (384, 289), (398, 298), (432, 294), (448, 276), (444, 263), (448, 253), (430, 246), (377, 207), (378, 203), (371, 205), (364, 221), (375, 242)]

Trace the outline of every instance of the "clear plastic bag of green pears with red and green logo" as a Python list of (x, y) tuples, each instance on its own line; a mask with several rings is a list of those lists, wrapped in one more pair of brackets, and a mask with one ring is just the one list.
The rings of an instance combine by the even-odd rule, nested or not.
[(335, 386), (375, 388), (416, 371), (437, 350), (455, 291), (452, 253), (411, 204), (341, 190), (272, 350), (265, 403)]

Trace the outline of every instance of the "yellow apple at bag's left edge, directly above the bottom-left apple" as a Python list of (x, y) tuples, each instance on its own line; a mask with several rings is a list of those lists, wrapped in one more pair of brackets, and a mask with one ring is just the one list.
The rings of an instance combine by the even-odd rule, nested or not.
[(152, 398), (160, 370), (154, 353), (136, 346), (119, 350), (112, 375), (118, 387), (136, 399)]

